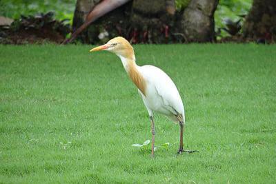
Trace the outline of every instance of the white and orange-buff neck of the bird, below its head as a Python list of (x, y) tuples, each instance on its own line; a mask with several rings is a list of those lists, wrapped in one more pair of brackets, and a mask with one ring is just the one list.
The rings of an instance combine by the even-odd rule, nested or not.
[(133, 55), (130, 58), (119, 57), (132, 82), (135, 83), (137, 88), (146, 96), (146, 81), (144, 76), (139, 71), (139, 65), (135, 62), (135, 56)]

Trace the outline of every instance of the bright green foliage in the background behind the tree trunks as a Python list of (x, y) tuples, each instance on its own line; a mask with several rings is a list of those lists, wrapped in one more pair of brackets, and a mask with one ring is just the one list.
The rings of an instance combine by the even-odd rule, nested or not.
[[(176, 0), (177, 10), (181, 10), (188, 6), (190, 0)], [(0, 1), (0, 15), (19, 19), (23, 15), (35, 15), (38, 12), (55, 12), (58, 20), (68, 19), (72, 25), (76, 0), (2, 0)], [(239, 15), (248, 14), (252, 6), (253, 0), (220, 0), (217, 10), (215, 11), (215, 30), (226, 27), (226, 19), (238, 21), (241, 19)], [(226, 37), (229, 34), (222, 30), (217, 39)]]

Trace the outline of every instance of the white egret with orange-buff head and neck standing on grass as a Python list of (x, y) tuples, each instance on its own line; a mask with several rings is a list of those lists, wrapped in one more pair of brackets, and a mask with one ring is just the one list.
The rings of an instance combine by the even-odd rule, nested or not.
[(179, 122), (180, 144), (177, 153), (197, 152), (183, 149), (184, 134), (184, 105), (179, 92), (170, 77), (161, 69), (153, 65), (139, 66), (135, 62), (135, 53), (130, 43), (123, 37), (115, 37), (108, 43), (92, 48), (90, 52), (107, 50), (117, 54), (124, 65), (128, 76), (138, 88), (138, 92), (146, 105), (151, 122), (152, 146), (151, 154), (154, 156), (155, 150), (155, 123), (153, 112), (164, 114), (172, 121)]

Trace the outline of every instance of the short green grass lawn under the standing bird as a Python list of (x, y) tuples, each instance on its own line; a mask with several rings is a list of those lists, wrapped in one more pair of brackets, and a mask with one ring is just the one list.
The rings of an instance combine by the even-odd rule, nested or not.
[(155, 158), (135, 85), (89, 45), (0, 45), (0, 183), (275, 183), (276, 45), (135, 45), (186, 109), (155, 117)]

